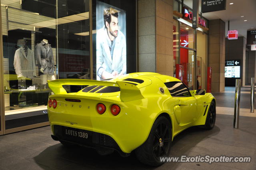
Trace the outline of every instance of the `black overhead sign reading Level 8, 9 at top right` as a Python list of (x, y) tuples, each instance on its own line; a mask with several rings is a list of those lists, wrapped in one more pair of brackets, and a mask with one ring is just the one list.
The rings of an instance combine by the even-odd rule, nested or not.
[(202, 13), (220, 10), (226, 10), (226, 0), (202, 0)]

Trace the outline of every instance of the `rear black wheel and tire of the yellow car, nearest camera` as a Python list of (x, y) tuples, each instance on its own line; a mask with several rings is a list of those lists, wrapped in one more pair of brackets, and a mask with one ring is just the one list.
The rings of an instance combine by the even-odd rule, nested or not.
[(143, 164), (160, 166), (165, 163), (160, 158), (169, 155), (171, 144), (171, 123), (166, 116), (160, 116), (154, 122), (148, 139), (135, 150), (135, 154)]

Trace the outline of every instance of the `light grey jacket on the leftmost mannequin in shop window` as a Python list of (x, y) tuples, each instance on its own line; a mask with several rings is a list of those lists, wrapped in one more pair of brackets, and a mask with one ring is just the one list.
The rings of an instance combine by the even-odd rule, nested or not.
[(16, 50), (13, 65), (18, 77), (33, 78), (36, 76), (35, 58), (29, 48), (27, 56), (23, 47)]

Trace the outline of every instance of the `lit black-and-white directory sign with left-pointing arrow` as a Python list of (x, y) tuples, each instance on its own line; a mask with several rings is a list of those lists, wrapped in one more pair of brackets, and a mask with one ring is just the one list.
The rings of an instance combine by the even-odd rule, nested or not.
[(225, 78), (240, 78), (240, 60), (225, 61)]

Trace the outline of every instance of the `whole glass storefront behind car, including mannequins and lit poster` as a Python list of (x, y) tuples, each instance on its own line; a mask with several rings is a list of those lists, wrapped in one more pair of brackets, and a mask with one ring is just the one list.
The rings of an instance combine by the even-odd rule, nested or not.
[(48, 122), (48, 80), (136, 72), (136, 0), (0, 3), (6, 130)]

